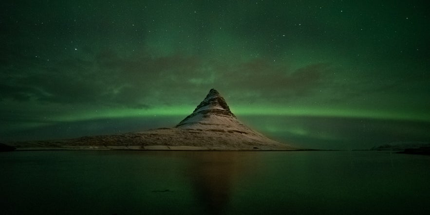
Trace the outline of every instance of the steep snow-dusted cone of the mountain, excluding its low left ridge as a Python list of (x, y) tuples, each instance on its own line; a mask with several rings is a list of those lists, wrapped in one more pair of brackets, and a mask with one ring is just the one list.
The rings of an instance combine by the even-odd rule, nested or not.
[(174, 129), (185, 132), (187, 142), (193, 141), (192, 136), (199, 136), (196, 140), (199, 144), (223, 145), (223, 147), (232, 145), (246, 145), (245, 147), (258, 145), (257, 148), (290, 147), (270, 140), (244, 125), (230, 111), (224, 98), (215, 89), (209, 90), (205, 99)]

